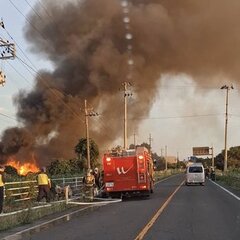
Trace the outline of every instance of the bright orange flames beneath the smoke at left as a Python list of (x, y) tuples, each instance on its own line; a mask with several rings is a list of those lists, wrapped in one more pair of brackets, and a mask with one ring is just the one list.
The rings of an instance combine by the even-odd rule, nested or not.
[(7, 163), (6, 166), (12, 166), (14, 168), (17, 169), (18, 174), (21, 176), (26, 176), (29, 172), (39, 172), (39, 168), (37, 167), (37, 165), (34, 162), (25, 162), (25, 163), (21, 163), (18, 160), (14, 160), (14, 159), (10, 159)]

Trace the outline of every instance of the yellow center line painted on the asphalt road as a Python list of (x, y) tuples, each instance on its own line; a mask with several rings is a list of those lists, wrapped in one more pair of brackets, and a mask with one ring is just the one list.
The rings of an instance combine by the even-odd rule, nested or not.
[(147, 223), (147, 225), (143, 228), (143, 230), (137, 235), (137, 237), (134, 240), (143, 239), (143, 237), (146, 235), (146, 233), (149, 231), (149, 229), (153, 226), (153, 224), (156, 222), (158, 217), (161, 215), (163, 210), (167, 207), (169, 202), (172, 200), (173, 196), (176, 194), (176, 192), (184, 183), (185, 183), (185, 180), (183, 180), (181, 184), (175, 189), (175, 191), (170, 195), (170, 197), (166, 200), (166, 202), (162, 205), (162, 207), (158, 209), (156, 214), (152, 217), (152, 219)]

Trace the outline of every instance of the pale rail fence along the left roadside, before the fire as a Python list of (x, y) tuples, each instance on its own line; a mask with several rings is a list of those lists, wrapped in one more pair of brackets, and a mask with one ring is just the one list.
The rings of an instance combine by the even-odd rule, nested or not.
[[(69, 185), (74, 193), (81, 191), (82, 177), (55, 178), (51, 179), (53, 186), (61, 188)], [(36, 199), (38, 192), (37, 181), (6, 182), (5, 198), (7, 202), (22, 202)]]

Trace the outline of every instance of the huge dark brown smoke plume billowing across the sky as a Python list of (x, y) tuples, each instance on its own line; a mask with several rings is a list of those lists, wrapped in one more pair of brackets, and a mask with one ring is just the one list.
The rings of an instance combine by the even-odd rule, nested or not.
[[(134, 98), (129, 118), (147, 116), (163, 73), (186, 73), (198, 84), (217, 75), (239, 81), (240, 2), (236, 0), (132, 0)], [(22, 128), (3, 133), (0, 152), (38, 161), (70, 158), (85, 135), (84, 99), (101, 113), (91, 137), (102, 148), (123, 132), (123, 94), (128, 74), (126, 29), (120, 0), (43, 1), (30, 13), (25, 35), (31, 49), (52, 61), (31, 92), (15, 97)], [(49, 18), (48, 15), (51, 15)], [(37, 31), (36, 31), (37, 29)], [(40, 34), (39, 34), (40, 33)], [(94, 124), (94, 125), (93, 125)], [(129, 131), (139, 121), (130, 121)], [(121, 144), (121, 143), (120, 143)]]

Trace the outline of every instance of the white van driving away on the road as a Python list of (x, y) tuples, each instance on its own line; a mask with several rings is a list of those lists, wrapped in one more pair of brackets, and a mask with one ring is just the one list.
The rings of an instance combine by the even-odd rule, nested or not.
[(186, 185), (189, 184), (205, 184), (205, 173), (202, 163), (193, 163), (188, 166), (186, 172)]

